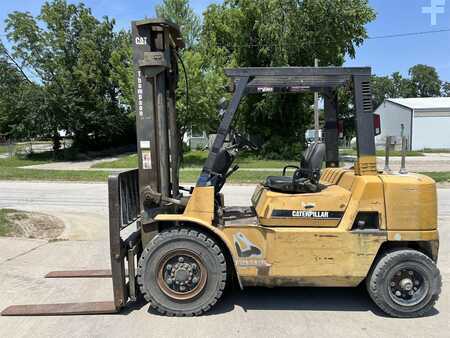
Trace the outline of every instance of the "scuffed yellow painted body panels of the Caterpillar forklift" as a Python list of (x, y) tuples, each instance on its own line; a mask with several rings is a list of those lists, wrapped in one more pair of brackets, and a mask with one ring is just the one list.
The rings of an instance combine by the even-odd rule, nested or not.
[[(384, 242), (439, 237), (434, 181), (417, 174), (373, 174), (371, 163), (363, 158), (355, 171), (324, 170), (320, 182), (326, 188), (319, 193), (281, 194), (259, 185), (252, 197), (257, 224), (213, 224), (213, 187), (195, 188), (183, 214), (156, 220), (195, 223), (217, 234), (244, 285), (355, 286)], [(340, 221), (284, 219), (272, 217), (275, 209), (344, 214)], [(355, 230), (359, 212), (377, 212), (379, 230)], [(252, 246), (257, 250), (248, 249)]]

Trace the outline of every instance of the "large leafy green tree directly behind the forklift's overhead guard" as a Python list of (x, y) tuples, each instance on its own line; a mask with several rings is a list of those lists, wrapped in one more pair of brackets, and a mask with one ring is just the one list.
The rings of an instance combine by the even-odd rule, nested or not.
[[(365, 0), (226, 0), (204, 13), (201, 48), (208, 66), (342, 65), (375, 18)], [(312, 122), (312, 95), (248, 97), (240, 126), (258, 136), (269, 157), (292, 157)], [(276, 136), (274, 136), (276, 135)], [(294, 146), (293, 146), (294, 145)], [(297, 145), (297, 146), (295, 146)]]

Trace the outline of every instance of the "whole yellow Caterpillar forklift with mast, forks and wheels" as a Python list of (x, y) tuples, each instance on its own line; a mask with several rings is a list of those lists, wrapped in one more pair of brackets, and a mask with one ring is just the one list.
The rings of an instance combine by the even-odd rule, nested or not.
[[(232, 285), (364, 283), (388, 315), (430, 311), (442, 284), (436, 185), (424, 175), (377, 169), (370, 68), (226, 69), (233, 96), (196, 185), (188, 188), (179, 183), (179, 28), (161, 19), (135, 21), (132, 39), (139, 166), (109, 178), (111, 269), (46, 276), (112, 278), (114, 301), (13, 305), (2, 315), (115, 313), (143, 298), (163, 315), (194, 316)], [(357, 161), (350, 169), (339, 166), (342, 86), (354, 96)], [(242, 98), (304, 92), (324, 98), (324, 142), (311, 143), (297, 167), (267, 177), (248, 207), (225, 206), (221, 191), (239, 169), (236, 157), (258, 149), (232, 130)]]

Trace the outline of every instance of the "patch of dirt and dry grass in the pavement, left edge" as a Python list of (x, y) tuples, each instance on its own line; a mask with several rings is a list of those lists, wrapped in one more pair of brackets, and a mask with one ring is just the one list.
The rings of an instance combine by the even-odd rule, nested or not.
[(57, 239), (64, 230), (59, 218), (40, 212), (0, 209), (0, 236)]

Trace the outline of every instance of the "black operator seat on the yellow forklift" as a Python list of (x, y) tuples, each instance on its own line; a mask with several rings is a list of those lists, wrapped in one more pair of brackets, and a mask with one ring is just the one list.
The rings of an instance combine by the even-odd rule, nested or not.
[(285, 194), (319, 192), (324, 186), (319, 184), (320, 169), (325, 157), (325, 144), (312, 143), (305, 151), (304, 159), (292, 177), (269, 176), (264, 184), (272, 191)]

